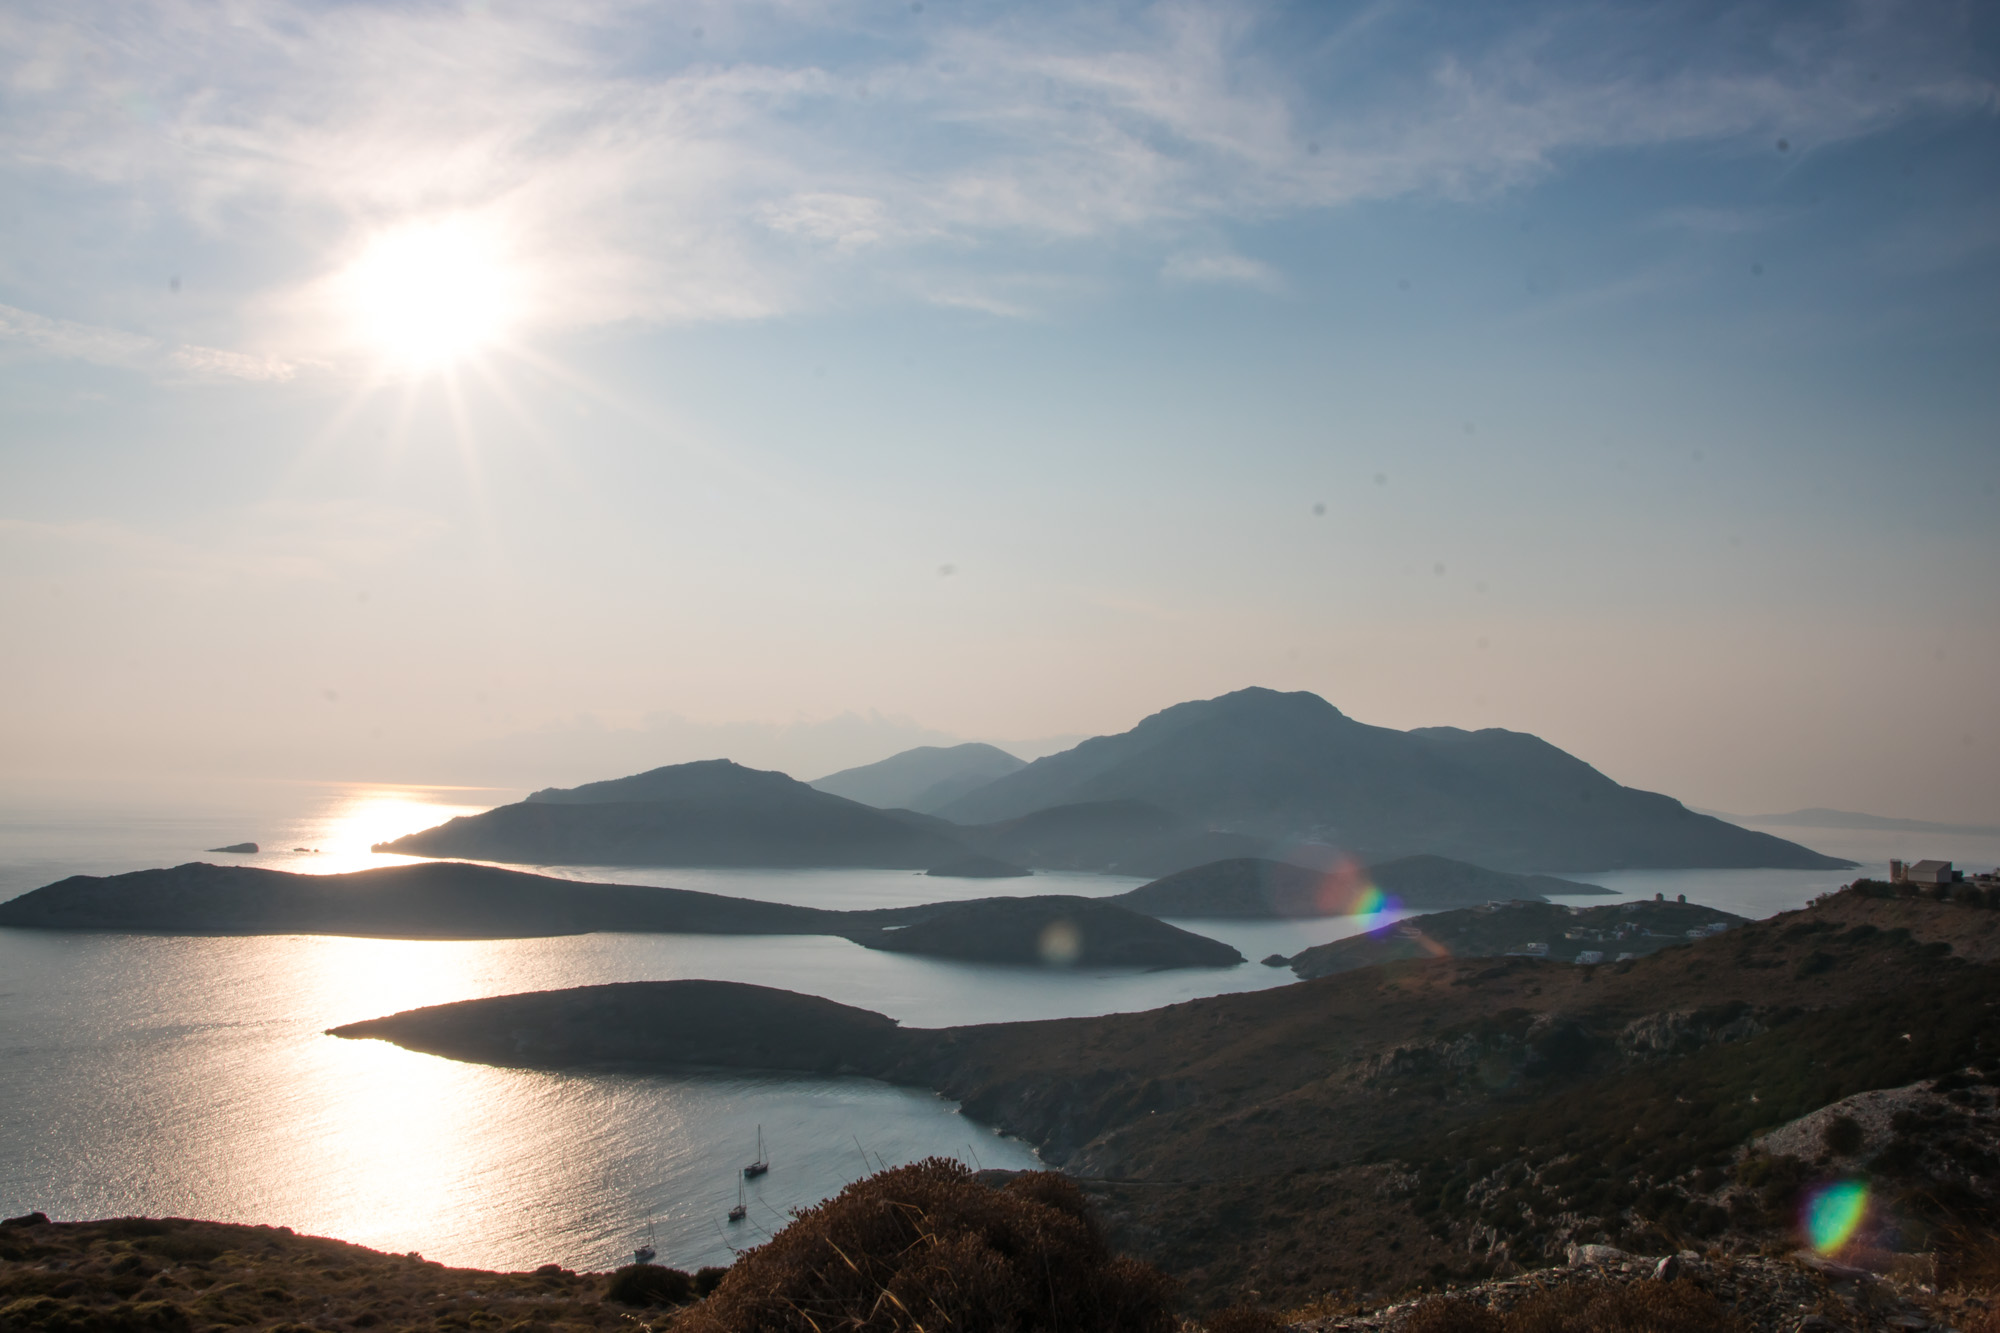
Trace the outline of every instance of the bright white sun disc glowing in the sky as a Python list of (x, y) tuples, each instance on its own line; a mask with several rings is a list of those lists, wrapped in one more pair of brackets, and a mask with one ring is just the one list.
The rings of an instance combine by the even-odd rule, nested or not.
[(376, 234), (342, 274), (358, 338), (392, 368), (446, 368), (506, 336), (518, 284), (494, 228), (472, 218)]

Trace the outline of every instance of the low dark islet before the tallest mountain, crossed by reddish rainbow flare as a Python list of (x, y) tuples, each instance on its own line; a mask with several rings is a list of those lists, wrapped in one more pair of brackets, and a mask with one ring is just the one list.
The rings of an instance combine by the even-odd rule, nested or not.
[(1508, 875), (1444, 857), (1402, 857), (1370, 871), (1356, 865), (1308, 871), (1284, 861), (1234, 857), (1178, 871), (1110, 899), (1154, 917), (1346, 917), (1378, 911), (1370, 889), (1402, 907), (1466, 907), (1494, 899), (1540, 899), (1548, 893), (1608, 893), (1548, 875)]

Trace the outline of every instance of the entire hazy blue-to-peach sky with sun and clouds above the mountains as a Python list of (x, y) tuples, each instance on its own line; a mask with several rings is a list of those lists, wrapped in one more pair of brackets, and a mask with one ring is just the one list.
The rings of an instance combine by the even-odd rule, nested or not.
[(0, 10), (0, 777), (1244, 685), (2000, 823), (2000, 8)]

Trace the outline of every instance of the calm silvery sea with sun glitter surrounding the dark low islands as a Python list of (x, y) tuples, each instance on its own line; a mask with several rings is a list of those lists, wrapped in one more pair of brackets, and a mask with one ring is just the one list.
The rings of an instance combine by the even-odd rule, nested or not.
[[(182, 783), (0, 791), (0, 901), (68, 875), (188, 861), (336, 873), (496, 789)], [(2000, 863), (2000, 837), (1768, 829), (1860, 871), (1576, 875), (1620, 899), (1686, 895), (1744, 917), (1802, 907), (1890, 857)], [(250, 857), (206, 849), (254, 841)], [(538, 867), (814, 907), (990, 893), (1110, 895), (1136, 879), (1042, 873), (952, 881), (908, 871)], [(1582, 897), (1596, 905), (1618, 899)], [(576, 935), (528, 941), (162, 937), (0, 929), (0, 1215), (206, 1217), (286, 1225), (448, 1265), (602, 1271), (642, 1243), (660, 1263), (726, 1265), (796, 1209), (886, 1165), (954, 1157), (1032, 1169), (1034, 1151), (950, 1101), (870, 1079), (486, 1069), (326, 1031), (516, 991), (706, 977), (824, 995), (908, 1027), (1142, 1011), (1290, 985), (1258, 959), (1404, 915), (1182, 921), (1232, 969), (1022, 969), (944, 963), (824, 937)], [(758, 1153), (770, 1171), (744, 1181)], [(738, 1193), (742, 1191), (742, 1195)], [(748, 1217), (728, 1221), (738, 1197)]]

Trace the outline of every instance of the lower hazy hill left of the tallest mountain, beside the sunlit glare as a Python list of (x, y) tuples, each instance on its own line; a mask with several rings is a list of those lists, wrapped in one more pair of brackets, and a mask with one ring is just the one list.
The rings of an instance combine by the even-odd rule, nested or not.
[(538, 791), (376, 851), (522, 865), (928, 869), (970, 855), (948, 829), (814, 791), (782, 773), (708, 759)]

